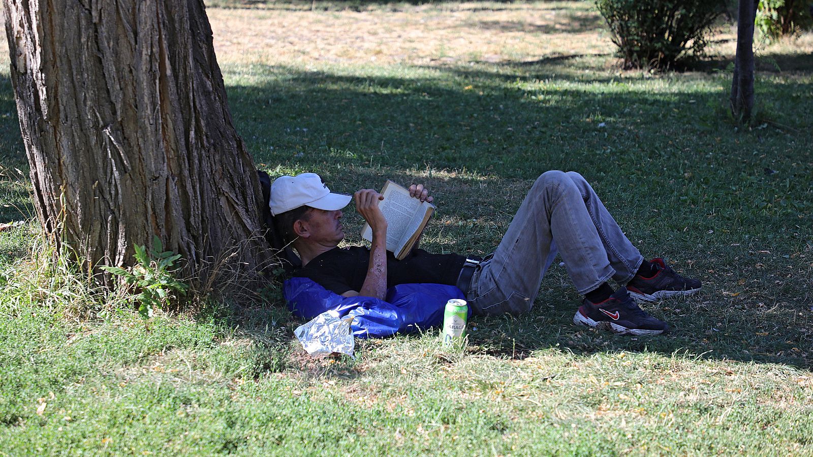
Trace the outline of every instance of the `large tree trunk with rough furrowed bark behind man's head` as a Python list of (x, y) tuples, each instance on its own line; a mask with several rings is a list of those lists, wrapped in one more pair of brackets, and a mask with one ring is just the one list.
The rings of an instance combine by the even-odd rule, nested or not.
[(202, 0), (4, 0), (37, 215), (84, 267), (165, 249), (258, 272), (259, 181)]

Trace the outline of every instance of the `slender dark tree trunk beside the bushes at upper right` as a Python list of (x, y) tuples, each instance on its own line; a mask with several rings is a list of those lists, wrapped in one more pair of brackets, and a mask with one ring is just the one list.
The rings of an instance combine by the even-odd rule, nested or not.
[(731, 83), (731, 112), (747, 123), (754, 109), (754, 20), (756, 2), (740, 0), (737, 18), (737, 56)]

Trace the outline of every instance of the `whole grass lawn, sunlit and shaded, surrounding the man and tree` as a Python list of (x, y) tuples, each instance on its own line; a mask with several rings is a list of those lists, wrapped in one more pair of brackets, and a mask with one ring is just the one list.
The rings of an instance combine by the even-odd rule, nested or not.
[[(584, 8), (570, 3), (556, 7)], [(145, 324), (25, 224), (0, 232), (0, 455), (813, 455), (810, 50), (760, 51), (782, 71), (760, 67), (743, 130), (728, 54), (652, 76), (572, 46), (499, 63), (220, 60), (260, 168), (346, 192), (426, 182), (429, 250), (489, 252), (539, 173), (582, 173), (644, 255), (704, 282), (646, 307), (672, 333), (573, 326), (580, 298), (554, 267), (528, 315), (474, 318), (463, 354), (430, 330), (311, 360), (279, 285)], [(6, 223), (31, 214), (7, 76), (0, 115)]]

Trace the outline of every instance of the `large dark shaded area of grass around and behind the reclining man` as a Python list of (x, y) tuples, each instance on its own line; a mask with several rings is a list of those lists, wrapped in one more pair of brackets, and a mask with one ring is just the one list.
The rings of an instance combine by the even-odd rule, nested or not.
[[(429, 250), (489, 252), (535, 176), (576, 169), (645, 255), (667, 255), (705, 284), (699, 298), (647, 308), (672, 324), (671, 335), (614, 337), (571, 324), (580, 298), (552, 271), (528, 316), (476, 318), (472, 343), (485, 353), (654, 350), (810, 368), (811, 296), (798, 293), (811, 289), (802, 273), (809, 235), (799, 228), (813, 209), (813, 163), (801, 147), (810, 134), (787, 150), (776, 149), (787, 133), (735, 132), (717, 108), (727, 91), (708, 83), (714, 75), (685, 76), (697, 79), (688, 84), (665, 76), (672, 86), (653, 90), (663, 79), (556, 76), (566, 65), (410, 76), (254, 67), (253, 83), (232, 83), (228, 94), (238, 131), (272, 175), (316, 171), (347, 192), (386, 178), (425, 181), (440, 208)], [(758, 90), (793, 104), (784, 122), (801, 129), (801, 113), (813, 115), (789, 97), (806, 90), (803, 81)], [(646, 203), (629, 204), (641, 195)], [(346, 226), (360, 226), (351, 212)]]

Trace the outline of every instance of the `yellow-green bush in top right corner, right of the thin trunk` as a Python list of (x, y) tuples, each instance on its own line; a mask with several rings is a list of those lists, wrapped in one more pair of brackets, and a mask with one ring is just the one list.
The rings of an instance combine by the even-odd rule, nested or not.
[(763, 37), (779, 37), (801, 33), (813, 27), (813, 11), (809, 0), (759, 0), (756, 26)]

